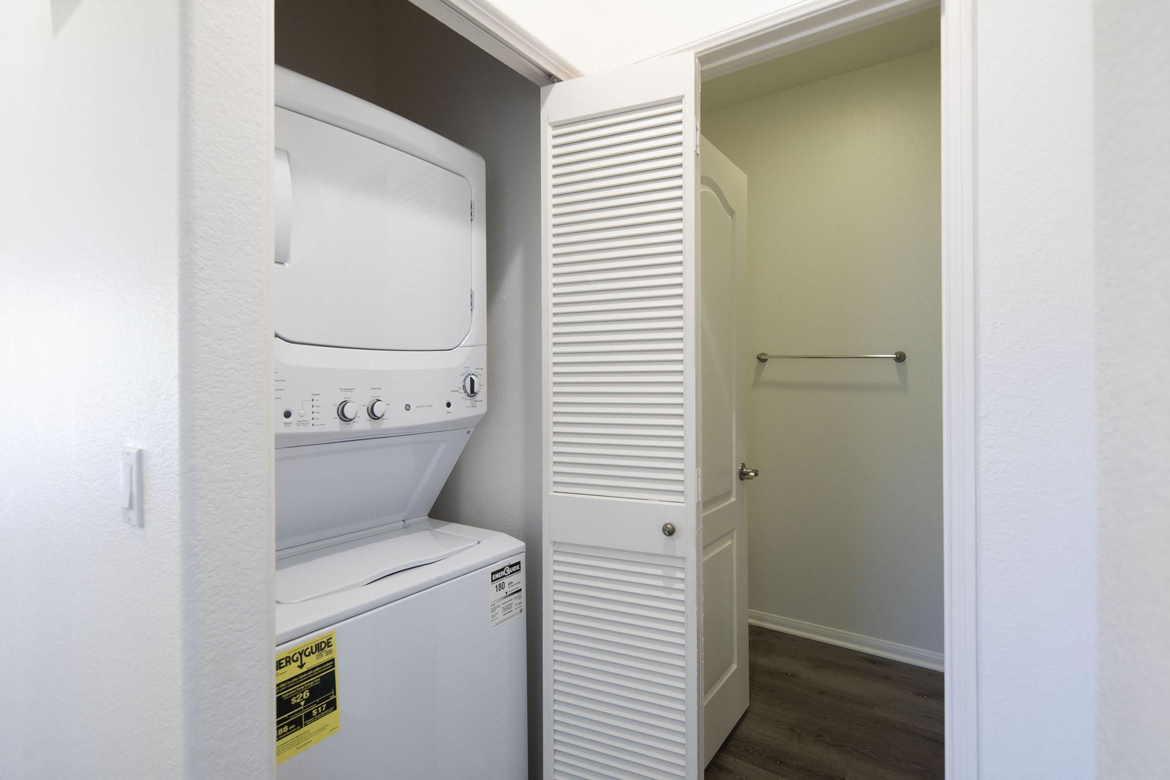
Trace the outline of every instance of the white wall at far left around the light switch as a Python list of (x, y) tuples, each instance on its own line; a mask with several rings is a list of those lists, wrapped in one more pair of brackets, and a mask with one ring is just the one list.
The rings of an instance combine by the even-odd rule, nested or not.
[[(20, 399), (0, 407), (0, 612), (20, 637), (0, 754), (14, 778), (183, 772), (179, 23), (176, 4), (0, 15), (0, 381)], [(118, 511), (125, 444), (146, 449), (140, 531)]]

